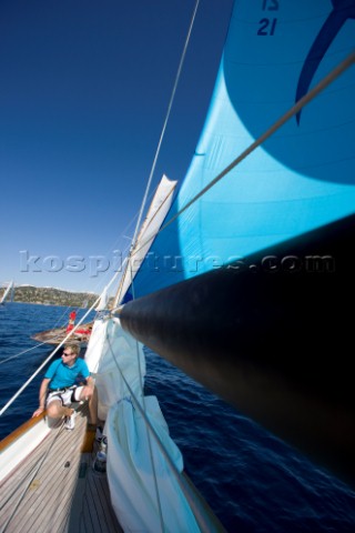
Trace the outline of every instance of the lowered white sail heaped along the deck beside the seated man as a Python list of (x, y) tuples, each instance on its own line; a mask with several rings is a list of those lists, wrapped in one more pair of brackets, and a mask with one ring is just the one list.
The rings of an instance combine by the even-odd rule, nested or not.
[[(158, 499), (164, 531), (199, 532), (194, 515), (179, 482), (135, 402), (143, 405), (145, 359), (138, 341), (125, 333), (119, 319), (97, 320), (85, 361), (99, 393), (99, 418), (106, 420), (108, 480), (111, 502), (125, 532), (161, 531)], [(134, 396), (134, 399), (133, 399)], [(169, 428), (155, 396), (144, 399), (145, 414), (168, 456), (181, 473), (183, 459), (169, 435)], [(155, 491), (154, 471), (159, 496)]]

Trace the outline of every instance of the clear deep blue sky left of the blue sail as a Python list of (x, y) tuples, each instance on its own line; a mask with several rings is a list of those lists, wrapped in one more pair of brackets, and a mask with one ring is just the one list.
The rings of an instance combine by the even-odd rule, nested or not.
[[(154, 184), (163, 172), (183, 180), (232, 3), (200, 2)], [(111, 278), (134, 231), (194, 4), (1, 1), (0, 282), (99, 292)], [(72, 255), (83, 258), (81, 272), (65, 266)], [(110, 266), (95, 275), (99, 257)]]

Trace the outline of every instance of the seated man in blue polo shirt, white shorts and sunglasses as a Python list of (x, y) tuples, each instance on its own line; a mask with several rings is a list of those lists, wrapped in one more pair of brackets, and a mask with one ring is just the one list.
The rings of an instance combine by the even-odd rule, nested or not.
[[(98, 423), (98, 395), (94, 381), (83, 359), (79, 358), (78, 344), (65, 344), (62, 358), (53, 361), (44, 374), (40, 386), (40, 405), (33, 416), (38, 416), (47, 406), (48, 416), (61, 419), (65, 416), (65, 428), (74, 429), (75, 411), (71, 402), (89, 400), (89, 412), (92, 424)], [(78, 380), (85, 385), (78, 385)]]

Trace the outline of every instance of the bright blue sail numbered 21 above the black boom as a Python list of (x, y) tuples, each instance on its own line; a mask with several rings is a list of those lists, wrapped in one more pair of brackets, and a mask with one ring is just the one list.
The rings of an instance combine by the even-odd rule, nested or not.
[[(190, 169), (166, 221), (355, 44), (355, 1), (239, 0)], [(156, 238), (135, 296), (354, 212), (355, 68)]]

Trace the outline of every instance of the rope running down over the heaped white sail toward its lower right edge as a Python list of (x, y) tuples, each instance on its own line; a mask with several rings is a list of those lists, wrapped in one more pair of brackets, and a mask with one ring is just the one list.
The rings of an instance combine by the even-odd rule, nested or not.
[(212, 531), (215, 531), (214, 529), (211, 529), (211, 523), (209, 523), (203, 514), (203, 510), (201, 509), (201, 506), (199, 505), (199, 501), (195, 500), (195, 495), (193, 493), (193, 491), (191, 490), (189, 483), (185, 481), (185, 479), (181, 475), (181, 473), (179, 472), (176, 465), (174, 464), (173, 460), (171, 459), (171, 456), (169, 455), (169, 452), (168, 450), (165, 449), (164, 444), (162, 443), (162, 441), (160, 440), (159, 438), (159, 434), (156, 433), (155, 429), (153, 428), (149, 416), (146, 416), (142, 405), (140, 404), (139, 400), (136, 399), (134, 392), (132, 391), (130, 384), (128, 383), (126, 379), (124, 378), (123, 375), (123, 372), (120, 368), (120, 364), (116, 360), (116, 356), (115, 356), (115, 353), (114, 351), (112, 350), (112, 346), (111, 346), (111, 343), (110, 343), (110, 340), (108, 338), (108, 341), (109, 341), (109, 348), (111, 350), (111, 353), (113, 355), (113, 361), (116, 365), (116, 368), (119, 369), (119, 372), (122, 376), (122, 380), (124, 381), (124, 384), (125, 386), (128, 388), (131, 396), (132, 396), (132, 400), (136, 406), (136, 409), (139, 410), (140, 414), (142, 415), (143, 420), (144, 420), (144, 423), (145, 425), (148, 426), (149, 431), (152, 433), (162, 455), (164, 456), (170, 470), (172, 471), (173, 475), (175, 476), (178, 483), (179, 483), (179, 486), (180, 489), (182, 490), (190, 507), (191, 507), (191, 511), (201, 529), (201, 531), (204, 531), (204, 532), (212, 532)]

